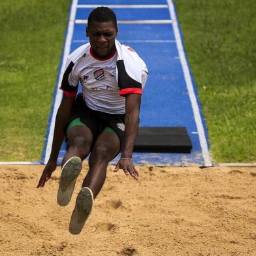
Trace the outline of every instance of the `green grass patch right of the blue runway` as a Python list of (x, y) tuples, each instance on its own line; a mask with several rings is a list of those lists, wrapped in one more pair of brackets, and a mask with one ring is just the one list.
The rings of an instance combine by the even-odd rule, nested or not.
[(215, 162), (256, 161), (256, 1), (174, 0)]

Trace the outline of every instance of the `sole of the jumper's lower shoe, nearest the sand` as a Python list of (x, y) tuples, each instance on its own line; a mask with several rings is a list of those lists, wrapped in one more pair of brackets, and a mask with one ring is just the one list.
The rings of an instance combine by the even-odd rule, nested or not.
[(89, 187), (83, 187), (76, 198), (76, 206), (69, 223), (69, 232), (71, 234), (79, 234), (82, 231), (84, 223), (86, 223), (93, 210), (93, 202), (93, 192)]

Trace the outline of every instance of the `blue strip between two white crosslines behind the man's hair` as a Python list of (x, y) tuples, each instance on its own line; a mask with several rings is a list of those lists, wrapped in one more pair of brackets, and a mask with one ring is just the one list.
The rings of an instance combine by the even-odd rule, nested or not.
[[(87, 20), (93, 8), (78, 8), (76, 20)], [(112, 8), (118, 20), (170, 20), (168, 8)]]

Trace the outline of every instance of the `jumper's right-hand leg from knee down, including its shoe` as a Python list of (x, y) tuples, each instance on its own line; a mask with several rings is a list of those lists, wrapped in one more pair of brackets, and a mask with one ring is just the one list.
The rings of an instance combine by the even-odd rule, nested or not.
[(93, 201), (106, 179), (106, 167), (120, 150), (116, 133), (103, 131), (97, 138), (89, 157), (89, 171), (76, 198), (76, 206), (69, 223), (69, 232), (79, 234), (93, 210)]

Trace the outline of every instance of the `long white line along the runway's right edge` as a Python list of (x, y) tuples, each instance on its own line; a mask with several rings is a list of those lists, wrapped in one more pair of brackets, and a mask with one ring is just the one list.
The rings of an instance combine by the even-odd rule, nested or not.
[(176, 38), (177, 42), (177, 48), (180, 56), (180, 61), (182, 63), (182, 69), (184, 72), (184, 77), (185, 77), (185, 82), (187, 84), (187, 91), (189, 92), (189, 99), (191, 101), (194, 117), (195, 117), (195, 123), (197, 125), (197, 131), (199, 131), (199, 141), (200, 141), (200, 146), (202, 148), (202, 157), (204, 158), (204, 165), (206, 167), (212, 166), (212, 161), (210, 159), (210, 153), (208, 150), (208, 145), (206, 141), (206, 136), (204, 133), (204, 127), (202, 125), (202, 120), (200, 117), (200, 111), (199, 111), (199, 106), (197, 104), (197, 98), (195, 97), (195, 91), (193, 88), (191, 76), (189, 73), (189, 67), (187, 65), (187, 60), (185, 58), (185, 53), (184, 53), (184, 48), (182, 45), (182, 39), (180, 37), (180, 31), (178, 29), (178, 22), (176, 18), (176, 13), (174, 10), (174, 5), (172, 3), (172, 0), (167, 0), (168, 6), (169, 6), (169, 11), (170, 11), (170, 17), (172, 18), (172, 27), (174, 29), (174, 36)]

